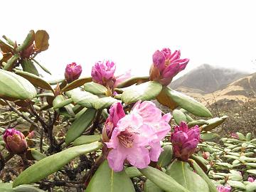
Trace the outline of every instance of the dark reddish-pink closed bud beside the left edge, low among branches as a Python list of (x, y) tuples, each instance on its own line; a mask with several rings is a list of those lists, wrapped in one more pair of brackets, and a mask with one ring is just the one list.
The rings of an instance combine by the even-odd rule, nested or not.
[(6, 129), (4, 132), (6, 149), (13, 154), (23, 154), (27, 149), (27, 142), (24, 135), (16, 129)]

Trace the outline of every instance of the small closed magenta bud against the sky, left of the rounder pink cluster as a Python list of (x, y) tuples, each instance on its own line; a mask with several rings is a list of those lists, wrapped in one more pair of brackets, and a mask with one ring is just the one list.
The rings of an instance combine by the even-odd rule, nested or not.
[(68, 64), (65, 68), (65, 80), (68, 83), (77, 80), (82, 73), (81, 65), (77, 65), (76, 63)]

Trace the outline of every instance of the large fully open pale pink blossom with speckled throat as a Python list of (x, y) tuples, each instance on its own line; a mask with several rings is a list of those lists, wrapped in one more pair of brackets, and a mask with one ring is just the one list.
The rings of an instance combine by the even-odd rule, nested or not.
[[(119, 110), (117, 105), (121, 104), (115, 103), (111, 110)], [(110, 116), (114, 117), (113, 114), (123, 115), (112, 112)], [(121, 116), (117, 115), (117, 119)], [(110, 142), (105, 142), (111, 149), (107, 156), (110, 167), (122, 171), (127, 160), (129, 164), (144, 169), (150, 161), (157, 161), (161, 153), (160, 141), (171, 129), (170, 119), (171, 114), (162, 117), (161, 110), (153, 102), (137, 102), (132, 112), (118, 120)]]

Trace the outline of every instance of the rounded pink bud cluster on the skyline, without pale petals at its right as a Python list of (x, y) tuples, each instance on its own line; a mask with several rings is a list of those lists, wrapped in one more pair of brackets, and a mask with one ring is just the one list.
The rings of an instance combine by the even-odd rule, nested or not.
[(95, 63), (95, 65), (92, 67), (92, 81), (101, 85), (109, 85), (109, 87), (112, 87), (114, 85), (115, 69), (116, 65), (110, 60)]

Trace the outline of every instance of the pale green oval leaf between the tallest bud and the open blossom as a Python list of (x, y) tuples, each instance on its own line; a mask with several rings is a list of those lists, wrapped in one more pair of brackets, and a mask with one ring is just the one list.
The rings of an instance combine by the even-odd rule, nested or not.
[(127, 104), (137, 102), (138, 100), (154, 100), (159, 95), (159, 92), (161, 92), (161, 89), (162, 85), (159, 82), (144, 82), (124, 90), (121, 100)]

